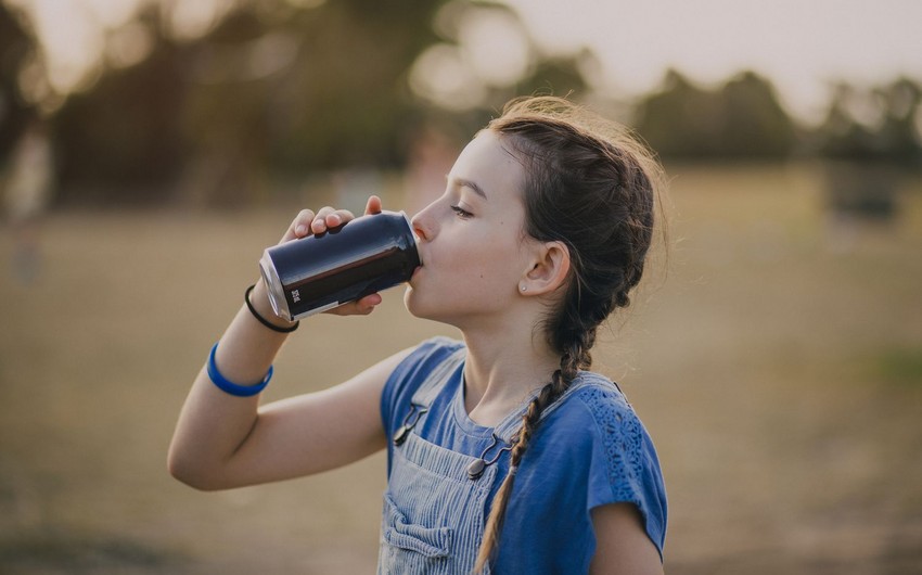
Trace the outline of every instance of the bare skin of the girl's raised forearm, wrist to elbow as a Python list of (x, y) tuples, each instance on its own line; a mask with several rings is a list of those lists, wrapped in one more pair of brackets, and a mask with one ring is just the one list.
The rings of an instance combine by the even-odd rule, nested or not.
[[(251, 294), (256, 310), (282, 327), (271, 310), (262, 281)], [(220, 374), (240, 385), (258, 384), (286, 340), (253, 317), (242, 306), (215, 352)], [(203, 354), (206, 350), (203, 350)], [(244, 444), (258, 419), (259, 394), (238, 397), (218, 388), (203, 368), (179, 416), (169, 450), (170, 473), (203, 489), (222, 487), (222, 470)]]

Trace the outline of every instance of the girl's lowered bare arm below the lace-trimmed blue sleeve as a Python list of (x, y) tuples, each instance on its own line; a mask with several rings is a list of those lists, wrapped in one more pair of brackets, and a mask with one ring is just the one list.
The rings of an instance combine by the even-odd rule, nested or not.
[(631, 503), (609, 503), (592, 510), (596, 557), (592, 575), (662, 575), (663, 563), (656, 546), (646, 536), (637, 508)]

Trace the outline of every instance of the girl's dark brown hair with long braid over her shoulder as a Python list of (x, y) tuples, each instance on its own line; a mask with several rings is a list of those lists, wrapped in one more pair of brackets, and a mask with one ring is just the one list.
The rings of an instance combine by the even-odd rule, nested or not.
[(571, 272), (563, 297), (540, 325), (560, 354), (560, 368), (522, 418), (510, 472), (487, 519), (477, 573), (498, 546), (515, 472), (541, 413), (591, 366), (599, 325), (630, 304), (652, 243), (662, 177), (657, 162), (625, 128), (560, 98), (513, 100), (486, 129), (525, 168), (525, 231), (566, 245)]

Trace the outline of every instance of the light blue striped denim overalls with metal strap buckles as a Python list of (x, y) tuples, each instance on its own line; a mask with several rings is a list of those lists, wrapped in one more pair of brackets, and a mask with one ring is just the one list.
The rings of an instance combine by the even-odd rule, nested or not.
[[(534, 395), (495, 427), (497, 444), (482, 455), (487, 464), (479, 468), (483, 474), (472, 480), (469, 469), (478, 458), (432, 444), (412, 431), (426, 417), (428, 406), (464, 360), (464, 354), (459, 349), (433, 370), (413, 395), (405, 424), (394, 434), (381, 525), (380, 575), (469, 575), (474, 568), (484, 537), (487, 499), (497, 481), (498, 465), (492, 463), (510, 450)], [(588, 383), (577, 379), (564, 396)], [(546, 409), (542, 419), (561, 404), (555, 401)], [(489, 574), (489, 566), (483, 573)]]

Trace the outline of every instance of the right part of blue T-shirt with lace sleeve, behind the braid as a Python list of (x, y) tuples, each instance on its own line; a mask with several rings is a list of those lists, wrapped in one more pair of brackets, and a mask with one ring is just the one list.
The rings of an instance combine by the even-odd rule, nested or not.
[[(503, 540), (509, 535), (511, 545), (540, 548), (540, 561), (529, 566), (591, 558), (597, 541), (593, 513), (610, 503), (633, 506), (646, 537), (663, 549), (666, 493), (653, 444), (624, 394), (600, 374), (581, 372), (545, 411), (514, 489), (517, 497), (508, 511), (508, 518), (515, 518), (513, 525), (554, 525), (522, 535), (509, 535), (522, 527), (504, 528)], [(535, 506), (536, 500), (546, 503)], [(508, 557), (500, 553), (501, 560)], [(521, 557), (516, 562), (521, 564)], [(577, 571), (586, 572), (588, 561), (585, 567)]]

